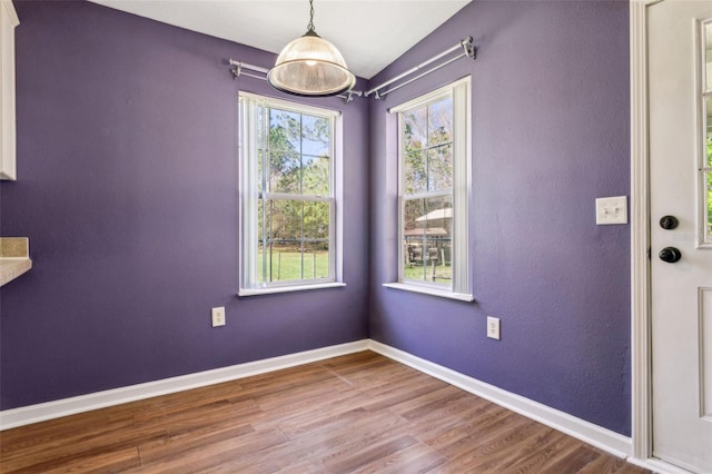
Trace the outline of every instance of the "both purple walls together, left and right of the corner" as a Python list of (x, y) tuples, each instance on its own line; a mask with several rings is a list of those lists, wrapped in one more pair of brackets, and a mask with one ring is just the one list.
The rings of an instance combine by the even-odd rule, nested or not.
[[(348, 286), (250, 298), (235, 296), (236, 97), (275, 93), (221, 60), (274, 56), (80, 1), (16, 6), (19, 180), (0, 210), (34, 268), (1, 289), (2, 409), (370, 335), (630, 434), (630, 229), (593, 213), (629, 194), (627, 2), (476, 1), (372, 83), (468, 34), (476, 61), (383, 101), (318, 101), (344, 111)], [(477, 302), (384, 288), (386, 108), (469, 73)]]

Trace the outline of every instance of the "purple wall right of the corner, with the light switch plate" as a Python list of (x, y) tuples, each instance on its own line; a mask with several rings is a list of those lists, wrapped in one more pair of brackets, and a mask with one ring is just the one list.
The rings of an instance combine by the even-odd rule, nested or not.
[[(476, 1), (372, 83), (467, 36), (475, 61), (372, 102), (370, 336), (629, 435), (630, 228), (594, 218), (596, 197), (630, 194), (629, 4)], [(386, 109), (466, 75), (473, 304), (382, 287), (398, 246)]]

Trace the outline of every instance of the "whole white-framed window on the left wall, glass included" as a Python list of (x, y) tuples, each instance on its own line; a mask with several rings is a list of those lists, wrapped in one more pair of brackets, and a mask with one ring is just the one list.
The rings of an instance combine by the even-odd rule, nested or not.
[(241, 296), (338, 284), (338, 112), (240, 93)]

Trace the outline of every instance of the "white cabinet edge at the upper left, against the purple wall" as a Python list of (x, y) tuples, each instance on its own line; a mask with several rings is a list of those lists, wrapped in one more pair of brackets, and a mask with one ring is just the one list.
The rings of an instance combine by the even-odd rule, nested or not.
[(0, 0), (0, 179), (16, 179), (14, 27), (11, 0)]

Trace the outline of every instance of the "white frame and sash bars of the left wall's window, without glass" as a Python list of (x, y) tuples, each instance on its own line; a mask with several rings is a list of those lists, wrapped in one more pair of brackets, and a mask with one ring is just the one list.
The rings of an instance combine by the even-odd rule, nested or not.
[[(343, 119), (337, 110), (306, 106), (287, 100), (258, 96), (249, 92), (239, 93), (239, 296), (254, 296), (274, 293), (300, 292), (343, 287)], [(328, 197), (313, 197), (288, 194), (268, 194), (273, 198), (287, 198), (314, 203), (332, 203), (329, 214), (329, 277), (318, 279), (300, 279), (290, 282), (258, 282), (258, 201), (259, 170), (257, 111), (276, 108), (308, 116), (327, 118), (332, 127), (330, 140), (330, 182)], [(269, 124), (263, 124), (261, 136), (268, 137)]]

